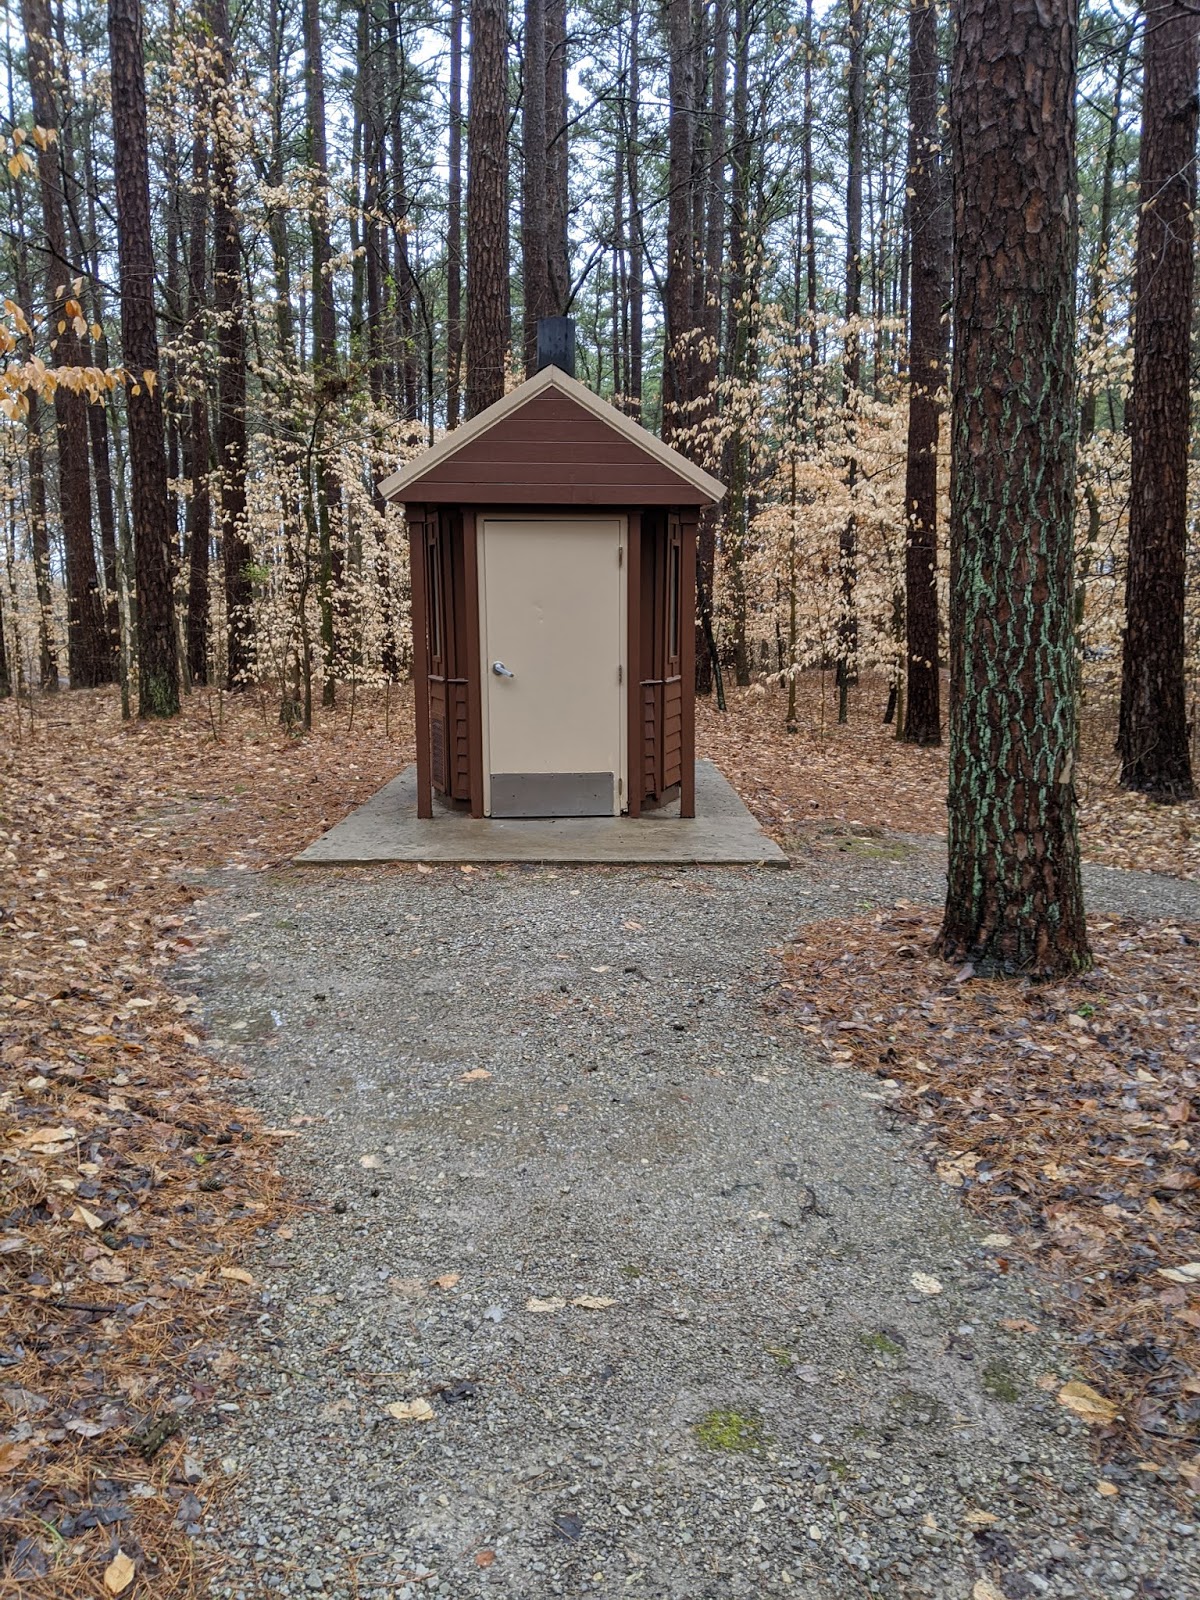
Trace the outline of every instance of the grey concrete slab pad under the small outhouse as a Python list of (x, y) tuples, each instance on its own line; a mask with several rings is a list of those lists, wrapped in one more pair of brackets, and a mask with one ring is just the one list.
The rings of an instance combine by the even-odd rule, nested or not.
[(470, 818), (453, 806), (416, 814), (416, 766), (406, 766), (366, 805), (302, 850), (301, 866), (370, 861), (558, 861), (786, 867), (787, 856), (758, 827), (728, 778), (696, 762), (696, 816), (678, 805), (627, 816)]

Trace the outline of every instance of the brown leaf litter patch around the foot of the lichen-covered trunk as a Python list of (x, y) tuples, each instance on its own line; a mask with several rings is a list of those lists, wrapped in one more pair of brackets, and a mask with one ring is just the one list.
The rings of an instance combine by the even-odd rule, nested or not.
[(1086, 1376), (1059, 1402), (1200, 1488), (1200, 923), (1098, 918), (1080, 978), (957, 984), (938, 922), (806, 925), (771, 1005), (923, 1130), (990, 1270), (1045, 1272)]

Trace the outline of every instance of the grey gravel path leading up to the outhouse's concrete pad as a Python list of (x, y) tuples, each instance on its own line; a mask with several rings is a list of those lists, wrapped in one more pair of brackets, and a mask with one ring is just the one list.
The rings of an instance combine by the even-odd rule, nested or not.
[(219, 1595), (1200, 1595), (1179, 1485), (1101, 1494), (1038, 1387), (1074, 1370), (1034, 1282), (874, 1080), (770, 1030), (798, 923), (939, 891), (936, 848), (842, 845), (221, 875), (181, 982), (301, 1130), (312, 1210), (262, 1240), (238, 1410), (194, 1442)]

